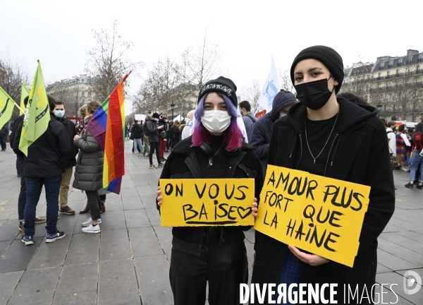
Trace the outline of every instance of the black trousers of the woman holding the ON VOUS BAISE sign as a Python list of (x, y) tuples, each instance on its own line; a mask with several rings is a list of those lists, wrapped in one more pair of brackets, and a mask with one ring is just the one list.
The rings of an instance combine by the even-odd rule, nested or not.
[(204, 234), (201, 256), (172, 249), (169, 277), (175, 305), (240, 304), (240, 284), (248, 282), (244, 242), (219, 245), (219, 234)]

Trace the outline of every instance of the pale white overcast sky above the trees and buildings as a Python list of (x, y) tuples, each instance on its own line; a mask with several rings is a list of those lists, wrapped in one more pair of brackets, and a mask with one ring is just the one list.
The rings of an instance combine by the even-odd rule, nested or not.
[[(290, 68), (305, 47), (324, 44), (341, 54), (344, 66), (377, 56), (423, 52), (421, 1), (2, 1), (0, 55), (21, 61), (32, 76), (41, 61), (46, 83), (84, 73), (92, 30), (120, 21), (135, 47), (140, 72), (165, 55), (180, 53), (204, 37), (219, 43), (222, 74), (241, 88), (264, 85), (271, 56)], [(131, 78), (133, 76), (130, 76)], [(130, 92), (140, 85), (131, 80)], [(130, 105), (126, 111), (130, 110)]]

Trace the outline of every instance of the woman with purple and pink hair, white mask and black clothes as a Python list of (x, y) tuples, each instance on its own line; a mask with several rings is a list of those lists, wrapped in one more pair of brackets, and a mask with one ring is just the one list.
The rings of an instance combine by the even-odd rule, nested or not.
[[(232, 80), (205, 83), (197, 100), (192, 136), (176, 145), (160, 179), (254, 178), (255, 197), (263, 186), (262, 165), (243, 142), (237, 123), (238, 100)], [(161, 205), (160, 186), (157, 209)], [(252, 203), (257, 216), (257, 199)], [(250, 226), (173, 227), (169, 277), (175, 305), (240, 304), (240, 284), (248, 282), (244, 232)]]

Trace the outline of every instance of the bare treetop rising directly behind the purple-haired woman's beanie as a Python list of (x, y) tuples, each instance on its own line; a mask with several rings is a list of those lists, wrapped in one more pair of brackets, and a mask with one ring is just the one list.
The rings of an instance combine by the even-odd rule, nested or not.
[(221, 64), (219, 44), (208, 39), (206, 29), (204, 38), (197, 43), (197, 46), (185, 49), (182, 60), (185, 83), (195, 85), (197, 90), (200, 90), (207, 80), (219, 72)]

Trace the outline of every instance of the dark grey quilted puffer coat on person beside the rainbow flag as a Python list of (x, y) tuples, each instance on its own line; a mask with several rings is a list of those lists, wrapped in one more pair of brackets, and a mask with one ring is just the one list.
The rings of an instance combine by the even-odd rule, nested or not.
[(90, 131), (85, 129), (73, 144), (79, 148), (73, 187), (84, 191), (97, 191), (103, 187), (104, 152)]

